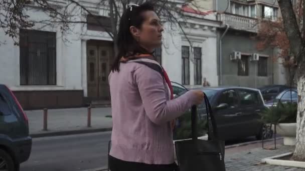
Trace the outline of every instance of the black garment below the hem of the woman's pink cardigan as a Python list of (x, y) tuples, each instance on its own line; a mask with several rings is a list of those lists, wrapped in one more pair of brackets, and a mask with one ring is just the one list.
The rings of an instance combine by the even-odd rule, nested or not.
[(109, 155), (111, 171), (174, 171), (177, 164), (145, 164), (141, 162), (124, 161)]

